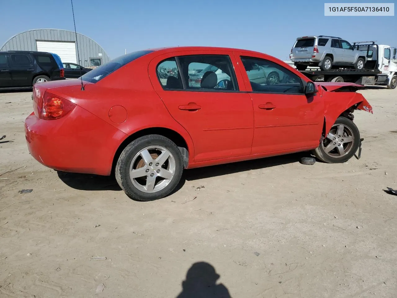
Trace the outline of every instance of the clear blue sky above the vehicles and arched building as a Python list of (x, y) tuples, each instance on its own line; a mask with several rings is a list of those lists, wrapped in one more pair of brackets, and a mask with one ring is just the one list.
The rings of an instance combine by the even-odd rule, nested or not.
[[(74, 30), (70, 0), (0, 2), (0, 46), (28, 29)], [(74, 0), (73, 4), (77, 32), (94, 39), (111, 58), (124, 54), (125, 48), (132, 52), (196, 45), (244, 48), (287, 60), (295, 39), (304, 35), (397, 46), (397, 16), (325, 17), (324, 2), (343, 1)]]

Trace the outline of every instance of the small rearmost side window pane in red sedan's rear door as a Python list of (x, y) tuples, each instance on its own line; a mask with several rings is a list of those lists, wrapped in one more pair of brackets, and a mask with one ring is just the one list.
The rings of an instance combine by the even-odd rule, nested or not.
[(183, 89), (175, 57), (160, 62), (156, 71), (163, 89)]

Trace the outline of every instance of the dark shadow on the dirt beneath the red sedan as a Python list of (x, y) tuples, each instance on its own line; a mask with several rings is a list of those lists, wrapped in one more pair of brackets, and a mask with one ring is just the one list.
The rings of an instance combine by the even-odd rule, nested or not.
[[(216, 166), (206, 166), (203, 168), (193, 168), (185, 170), (183, 176), (173, 193), (180, 190), (186, 181), (194, 181), (198, 179), (211, 178), (233, 174), (238, 172), (245, 172), (249, 170), (256, 170), (259, 168), (269, 168), (282, 164), (294, 163), (299, 161), (301, 157), (309, 156), (307, 152), (293, 153), (288, 155), (279, 155), (276, 157), (267, 157), (262, 159), (253, 159), (250, 161), (240, 161), (237, 163), (220, 164)], [(77, 190), (113, 190), (120, 191), (114, 175), (100, 176), (93, 174), (79, 174), (57, 171), (58, 177), (67, 186)]]

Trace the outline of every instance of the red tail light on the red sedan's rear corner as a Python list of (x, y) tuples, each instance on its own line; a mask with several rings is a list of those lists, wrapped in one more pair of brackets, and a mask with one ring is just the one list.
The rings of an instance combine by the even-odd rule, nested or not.
[(44, 120), (53, 120), (65, 116), (75, 108), (75, 104), (66, 99), (46, 92), (44, 94), (40, 118)]

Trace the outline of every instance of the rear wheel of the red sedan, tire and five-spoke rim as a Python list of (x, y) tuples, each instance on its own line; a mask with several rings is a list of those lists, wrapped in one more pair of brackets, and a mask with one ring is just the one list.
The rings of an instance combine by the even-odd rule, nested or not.
[(125, 147), (115, 172), (119, 186), (131, 199), (161, 199), (171, 194), (181, 180), (182, 155), (170, 139), (145, 135)]

